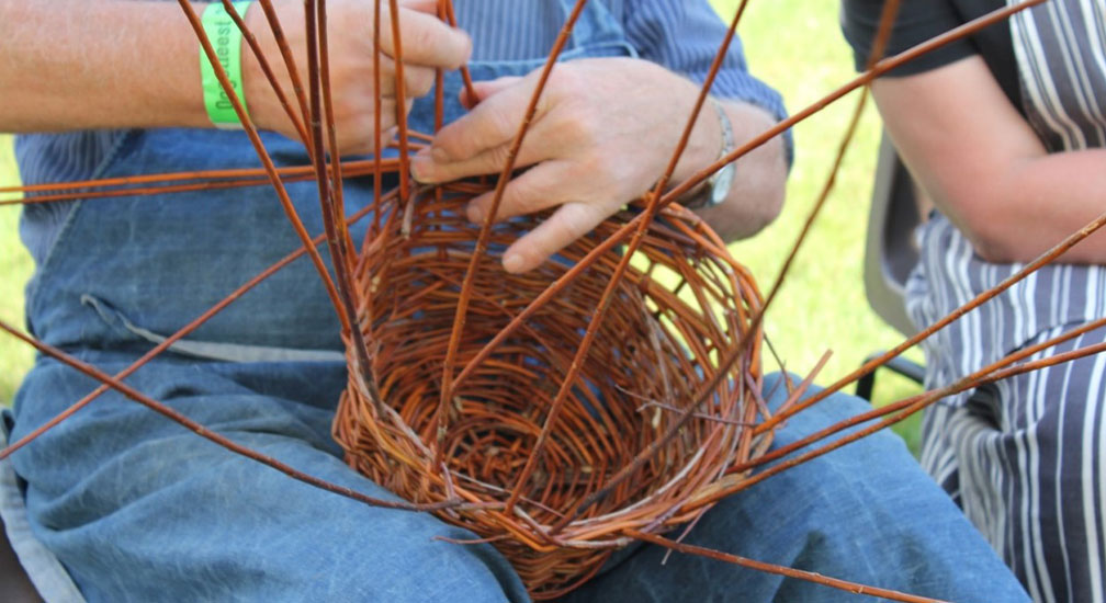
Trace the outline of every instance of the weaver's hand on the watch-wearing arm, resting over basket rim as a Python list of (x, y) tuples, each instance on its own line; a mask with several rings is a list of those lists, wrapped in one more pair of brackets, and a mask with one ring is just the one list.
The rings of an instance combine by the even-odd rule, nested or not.
[[(438, 133), (411, 163), (422, 182), (499, 173), (525, 114), (539, 72), (476, 85), (476, 105)], [(646, 61), (589, 59), (556, 65), (519, 152), (497, 220), (559, 208), (507, 250), (509, 272), (529, 271), (651, 189), (668, 165), (698, 86)], [(479, 103), (479, 104), (477, 104)], [(705, 106), (674, 183), (713, 161), (721, 148), (714, 112)], [(482, 221), (493, 193), (472, 200)]]

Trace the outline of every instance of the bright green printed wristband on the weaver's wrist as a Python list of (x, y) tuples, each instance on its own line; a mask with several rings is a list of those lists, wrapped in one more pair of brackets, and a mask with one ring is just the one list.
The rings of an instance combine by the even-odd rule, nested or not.
[[(249, 2), (233, 2), (234, 11), (240, 15), (246, 14)], [(227, 78), (234, 89), (234, 94), (246, 107), (246, 96), (242, 94), (242, 32), (234, 24), (233, 19), (227, 13), (222, 3), (213, 2), (204, 10), (204, 31), (211, 40), (216, 57), (219, 64), (227, 72)], [(208, 61), (204, 47), (200, 46), (200, 82), (204, 86), (204, 107), (207, 108), (208, 117), (215, 127), (221, 129), (240, 129), (242, 124), (234, 113), (234, 105), (231, 103), (227, 92), (219, 84), (219, 78), (215, 75), (215, 67)]]

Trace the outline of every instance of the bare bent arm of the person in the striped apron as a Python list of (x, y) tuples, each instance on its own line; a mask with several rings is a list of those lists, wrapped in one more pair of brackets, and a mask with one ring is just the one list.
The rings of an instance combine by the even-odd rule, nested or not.
[[(1048, 154), (979, 56), (872, 93), (915, 179), (984, 260), (1031, 261), (1106, 211), (1106, 150)], [(1106, 263), (1106, 234), (1061, 261)]]

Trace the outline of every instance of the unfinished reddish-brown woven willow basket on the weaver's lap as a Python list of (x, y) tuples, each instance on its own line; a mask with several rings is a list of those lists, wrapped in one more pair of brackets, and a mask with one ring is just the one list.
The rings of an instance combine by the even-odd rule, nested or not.
[[(728, 467), (764, 448), (766, 440), (750, 430), (761, 416), (754, 402), (761, 337), (744, 337), (762, 300), (749, 273), (698, 218), (678, 205), (660, 212), (615, 289), (535, 469), (517, 504), (507, 505), (625, 247), (598, 256), (487, 359), (469, 364), (640, 208), (520, 275), (502, 269), (501, 253), (544, 215), (493, 228), (457, 353), (457, 372), (470, 372), (453, 388), (442, 421), (442, 367), (479, 232), (463, 208), (479, 192), (456, 186), (383, 208), (380, 230), (371, 233), (354, 275), (374, 388), (358, 383), (355, 355), (347, 353), (351, 381), (334, 434), (351, 466), (408, 500), (492, 504), (438, 515), (492, 542), (535, 599), (551, 599), (628, 543), (624, 530), (657, 533), (695, 519), (703, 509), (685, 507), (717, 487)], [(742, 339), (745, 353), (690, 422), (628, 479), (581, 508), (661, 441)], [(383, 404), (374, 403), (371, 389)]]

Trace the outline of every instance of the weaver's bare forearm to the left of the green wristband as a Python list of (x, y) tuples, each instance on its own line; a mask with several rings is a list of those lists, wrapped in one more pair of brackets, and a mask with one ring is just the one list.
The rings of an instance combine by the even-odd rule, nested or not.
[(0, 0), (0, 56), (3, 131), (210, 125), (176, 2)]

